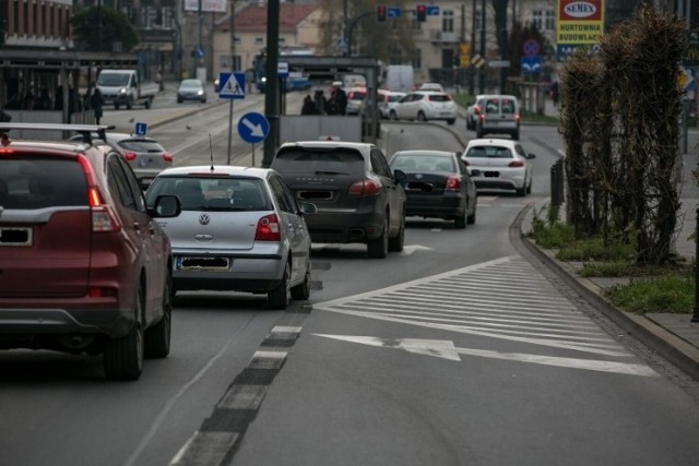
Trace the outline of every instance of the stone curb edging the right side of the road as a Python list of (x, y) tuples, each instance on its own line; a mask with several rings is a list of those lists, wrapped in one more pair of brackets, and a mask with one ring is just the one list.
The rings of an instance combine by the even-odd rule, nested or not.
[[(520, 212), (511, 227), (510, 237), (526, 251), (555, 272), (568, 286), (581, 295), (595, 309), (616, 323), (632, 337), (643, 342), (653, 351), (668, 360), (672, 365), (690, 378), (699, 381), (699, 349), (677, 335), (668, 332), (643, 315), (631, 314), (613, 306), (604, 298), (604, 290), (592, 280), (579, 276), (566, 262), (555, 259), (549, 250), (541, 249), (524, 235), (522, 224), (532, 205)], [(512, 230), (516, 234), (512, 234)], [(687, 318), (689, 319), (689, 316)]]

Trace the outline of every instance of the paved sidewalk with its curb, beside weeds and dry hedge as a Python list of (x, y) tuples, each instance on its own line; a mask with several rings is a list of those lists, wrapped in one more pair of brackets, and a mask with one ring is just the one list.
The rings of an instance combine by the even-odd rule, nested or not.
[[(699, 322), (691, 322), (692, 314), (648, 313), (645, 315), (625, 312), (614, 307), (605, 297), (605, 289), (625, 278), (592, 277), (584, 278), (578, 274), (580, 263), (562, 262), (554, 252), (544, 250), (528, 238), (532, 229), (534, 215), (548, 206), (549, 200), (534, 202), (518, 218), (518, 231), (521, 244), (547, 266), (554, 270), (569, 286), (594, 304), (617, 325), (635, 338), (667, 359), (675, 367), (695, 380), (699, 380)], [(694, 256), (692, 256), (694, 259)]]

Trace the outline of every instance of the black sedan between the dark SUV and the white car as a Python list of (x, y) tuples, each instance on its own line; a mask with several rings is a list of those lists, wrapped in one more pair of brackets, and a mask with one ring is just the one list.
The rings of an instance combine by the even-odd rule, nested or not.
[(475, 224), (477, 194), (461, 154), (447, 151), (399, 151), (391, 169), (402, 170), (407, 216), (453, 220), (455, 228)]

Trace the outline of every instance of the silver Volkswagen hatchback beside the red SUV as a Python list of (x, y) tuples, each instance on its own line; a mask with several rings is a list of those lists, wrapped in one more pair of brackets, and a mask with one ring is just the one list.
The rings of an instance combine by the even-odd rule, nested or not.
[(164, 194), (182, 214), (163, 226), (173, 243), (173, 294), (235, 290), (266, 294), (269, 307), (286, 309), (310, 295), (310, 236), (300, 205), (271, 169), (191, 166), (162, 171), (146, 192), (149, 205)]

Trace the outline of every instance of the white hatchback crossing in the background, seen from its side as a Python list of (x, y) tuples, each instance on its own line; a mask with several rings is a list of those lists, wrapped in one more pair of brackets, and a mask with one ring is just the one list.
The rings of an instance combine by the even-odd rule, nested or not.
[(415, 91), (400, 99), (390, 116), (392, 120), (445, 120), (453, 124), (459, 117), (459, 107), (447, 93)]

